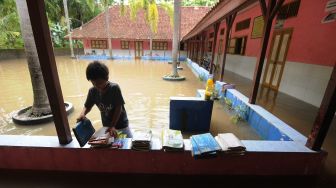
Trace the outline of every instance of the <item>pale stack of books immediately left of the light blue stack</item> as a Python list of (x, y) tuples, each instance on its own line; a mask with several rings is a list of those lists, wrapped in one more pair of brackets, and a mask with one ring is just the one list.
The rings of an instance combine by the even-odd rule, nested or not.
[(162, 147), (164, 151), (183, 151), (183, 136), (181, 131), (165, 129), (162, 136)]

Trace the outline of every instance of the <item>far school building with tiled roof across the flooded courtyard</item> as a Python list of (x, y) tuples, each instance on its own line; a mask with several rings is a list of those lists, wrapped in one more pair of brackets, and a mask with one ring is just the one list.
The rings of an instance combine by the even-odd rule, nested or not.
[[(168, 13), (158, 7), (159, 21), (157, 33), (151, 32), (145, 22), (144, 12), (140, 11), (136, 19), (130, 19), (128, 9), (125, 14), (120, 12), (121, 6), (108, 9), (110, 20), (110, 37), (112, 38), (113, 57), (149, 56), (152, 35), (152, 56), (171, 57), (173, 25)], [(181, 38), (184, 37), (203, 16), (209, 7), (181, 7)], [(106, 11), (102, 12), (80, 28), (73, 30), (72, 37), (82, 40), (84, 53), (109, 55)]]

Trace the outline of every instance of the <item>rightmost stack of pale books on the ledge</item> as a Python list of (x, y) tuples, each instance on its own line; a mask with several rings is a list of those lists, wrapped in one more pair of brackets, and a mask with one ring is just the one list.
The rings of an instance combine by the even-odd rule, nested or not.
[(246, 151), (244, 144), (232, 133), (222, 133), (215, 137), (222, 151), (242, 155)]

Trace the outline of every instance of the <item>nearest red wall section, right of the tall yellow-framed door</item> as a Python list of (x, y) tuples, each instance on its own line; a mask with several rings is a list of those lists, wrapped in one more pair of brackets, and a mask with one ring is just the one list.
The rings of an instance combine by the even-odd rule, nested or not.
[(328, 0), (301, 0), (298, 17), (288, 19), (284, 27), (293, 27), (287, 59), (333, 66), (336, 63), (336, 21), (321, 23)]

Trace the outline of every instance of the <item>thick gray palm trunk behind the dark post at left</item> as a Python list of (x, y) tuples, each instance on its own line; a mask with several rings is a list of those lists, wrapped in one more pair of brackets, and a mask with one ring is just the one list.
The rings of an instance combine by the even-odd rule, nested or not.
[(34, 95), (30, 116), (50, 114), (51, 109), (36, 51), (26, 0), (16, 0), (16, 7), (20, 18), (20, 27)]

